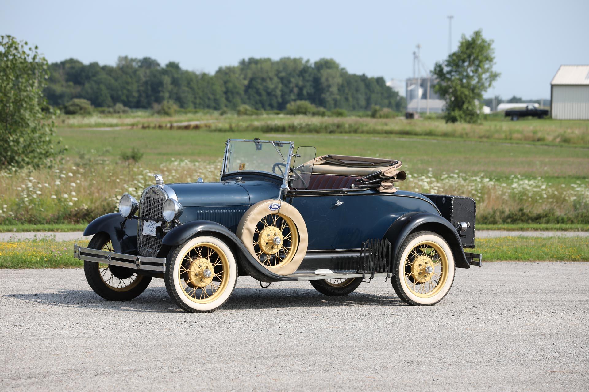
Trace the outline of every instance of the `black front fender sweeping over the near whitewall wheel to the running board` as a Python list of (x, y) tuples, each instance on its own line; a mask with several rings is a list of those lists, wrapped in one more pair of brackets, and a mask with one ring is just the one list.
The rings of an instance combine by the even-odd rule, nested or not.
[(236, 254), (236, 257), (241, 261), (239, 263), (240, 269), (260, 282), (296, 280), (294, 277), (281, 276), (264, 268), (258, 260), (252, 257), (252, 254), (250, 254), (241, 240), (231, 230), (210, 220), (192, 220), (182, 223), (167, 232), (161, 243), (168, 247), (178, 246), (198, 234), (213, 234), (214, 236), (223, 237), (224, 240), (230, 242), (229, 244), (233, 246), (233, 249), (239, 253)]

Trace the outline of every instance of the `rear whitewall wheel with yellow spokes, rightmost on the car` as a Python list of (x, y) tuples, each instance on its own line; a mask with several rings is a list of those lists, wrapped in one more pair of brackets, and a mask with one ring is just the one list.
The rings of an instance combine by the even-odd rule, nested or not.
[(454, 282), (452, 250), (444, 238), (433, 232), (410, 234), (399, 249), (395, 266), (393, 289), (409, 305), (438, 303)]

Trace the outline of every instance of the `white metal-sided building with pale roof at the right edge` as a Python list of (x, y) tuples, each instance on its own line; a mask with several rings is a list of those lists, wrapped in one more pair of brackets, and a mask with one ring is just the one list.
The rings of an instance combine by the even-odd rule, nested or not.
[(550, 82), (550, 115), (589, 120), (589, 65), (561, 65)]

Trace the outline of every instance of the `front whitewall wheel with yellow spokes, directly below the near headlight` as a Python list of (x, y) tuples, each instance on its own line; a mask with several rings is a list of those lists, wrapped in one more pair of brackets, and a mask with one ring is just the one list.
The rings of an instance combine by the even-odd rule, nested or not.
[(237, 282), (237, 263), (223, 240), (198, 236), (170, 250), (164, 277), (170, 298), (181, 309), (207, 313), (229, 300)]

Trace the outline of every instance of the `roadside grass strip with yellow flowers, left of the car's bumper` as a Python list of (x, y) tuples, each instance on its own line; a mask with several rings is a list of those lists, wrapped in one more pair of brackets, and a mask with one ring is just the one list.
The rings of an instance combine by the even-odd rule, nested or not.
[(27, 240), (0, 242), (0, 269), (79, 268), (83, 262), (74, 259), (74, 243), (85, 241)]

